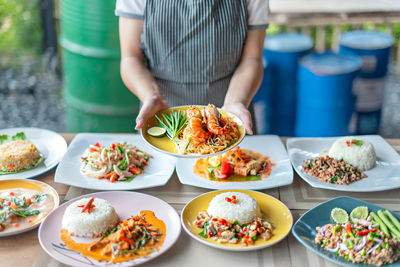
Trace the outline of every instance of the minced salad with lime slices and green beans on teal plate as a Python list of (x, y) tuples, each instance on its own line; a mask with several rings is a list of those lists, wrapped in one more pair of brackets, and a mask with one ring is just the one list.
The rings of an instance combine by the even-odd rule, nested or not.
[(314, 242), (354, 263), (376, 266), (397, 261), (400, 257), (400, 223), (388, 211), (368, 212), (356, 207), (350, 213), (334, 208), (335, 223), (316, 227)]

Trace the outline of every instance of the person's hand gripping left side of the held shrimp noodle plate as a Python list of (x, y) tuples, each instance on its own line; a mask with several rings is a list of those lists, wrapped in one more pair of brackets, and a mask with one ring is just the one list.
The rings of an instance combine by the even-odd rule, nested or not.
[(142, 108), (136, 117), (136, 130), (142, 129), (148, 118), (160, 110), (169, 108), (167, 101), (161, 93), (153, 93), (143, 100)]

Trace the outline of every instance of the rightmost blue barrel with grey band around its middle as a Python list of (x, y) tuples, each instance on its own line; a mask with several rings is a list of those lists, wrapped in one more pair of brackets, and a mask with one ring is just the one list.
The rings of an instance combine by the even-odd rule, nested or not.
[(393, 43), (392, 36), (379, 31), (350, 31), (340, 38), (339, 53), (357, 54), (362, 60), (361, 71), (354, 83), (357, 134), (379, 131), (385, 76)]

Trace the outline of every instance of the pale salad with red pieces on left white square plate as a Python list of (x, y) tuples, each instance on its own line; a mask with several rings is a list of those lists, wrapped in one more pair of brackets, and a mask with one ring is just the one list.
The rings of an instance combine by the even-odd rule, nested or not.
[(151, 156), (126, 142), (90, 145), (82, 156), (81, 172), (97, 179), (130, 182), (144, 172)]

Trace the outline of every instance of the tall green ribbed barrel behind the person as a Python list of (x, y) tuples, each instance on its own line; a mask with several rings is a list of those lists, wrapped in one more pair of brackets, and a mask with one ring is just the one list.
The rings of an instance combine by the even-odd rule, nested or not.
[(132, 132), (139, 100), (120, 76), (112, 0), (62, 0), (60, 45), (68, 132)]

